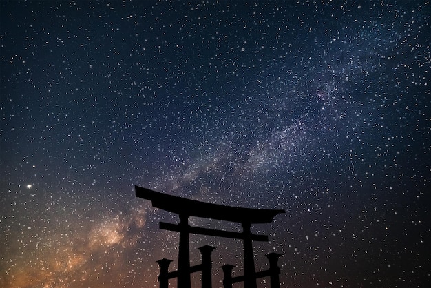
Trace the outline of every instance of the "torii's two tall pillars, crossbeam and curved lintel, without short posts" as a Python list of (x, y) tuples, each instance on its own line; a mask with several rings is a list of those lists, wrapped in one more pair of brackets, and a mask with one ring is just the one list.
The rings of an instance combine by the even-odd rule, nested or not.
[[(251, 234), (252, 224), (271, 223), (283, 209), (253, 209), (233, 207), (191, 200), (169, 194), (163, 194), (143, 187), (135, 186), (136, 197), (151, 200), (153, 207), (178, 214), (180, 224), (160, 222), (160, 229), (180, 232), (178, 247), (178, 288), (190, 288), (190, 248), (189, 234), (201, 234), (243, 241), (244, 246), (244, 288), (256, 288), (256, 272), (253, 257), (253, 240), (268, 241), (266, 235)], [(203, 227), (191, 227), (189, 217), (210, 218), (241, 223), (242, 232), (230, 232)]]

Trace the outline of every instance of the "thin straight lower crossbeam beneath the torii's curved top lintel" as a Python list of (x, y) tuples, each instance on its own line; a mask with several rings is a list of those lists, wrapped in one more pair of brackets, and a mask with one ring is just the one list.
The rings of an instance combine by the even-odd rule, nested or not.
[[(160, 229), (176, 231), (176, 232), (180, 232), (180, 230), (181, 230), (180, 225), (172, 224), (172, 223), (166, 223), (166, 222), (160, 222), (159, 227), (160, 227)], [(200, 235), (207, 235), (207, 236), (233, 238), (233, 239), (244, 239), (244, 234), (241, 232), (223, 231), (223, 230), (218, 230), (218, 229), (209, 229), (209, 228), (189, 226), (188, 232), (191, 234), (200, 234)], [(267, 235), (251, 234), (251, 236), (249, 236), (249, 237), (253, 241), (262, 241), (262, 242), (268, 241)]]

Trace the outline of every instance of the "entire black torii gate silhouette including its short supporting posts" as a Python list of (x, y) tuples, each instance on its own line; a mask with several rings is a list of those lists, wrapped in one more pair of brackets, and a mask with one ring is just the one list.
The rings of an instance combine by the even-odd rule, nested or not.
[[(163, 194), (138, 186), (135, 186), (135, 192), (137, 197), (151, 200), (153, 207), (178, 214), (180, 218), (179, 224), (160, 222), (160, 229), (180, 232), (178, 271), (169, 272), (169, 263), (171, 263), (171, 260), (158, 260), (158, 264), (160, 266), (160, 288), (167, 288), (168, 280), (170, 278), (178, 278), (178, 288), (190, 288), (190, 274), (196, 271), (202, 271), (202, 288), (211, 288), (211, 252), (215, 248), (211, 246), (200, 247), (202, 264), (191, 267), (189, 248), (190, 233), (242, 240), (244, 247), (244, 276), (232, 277), (231, 271), (233, 266), (223, 265), (223, 284), (225, 288), (232, 287), (233, 283), (242, 281), (244, 282), (245, 288), (256, 288), (256, 279), (266, 276), (270, 277), (271, 288), (280, 287), (280, 280), (278, 277), (280, 274), (280, 268), (277, 265), (280, 254), (271, 253), (266, 256), (270, 263), (269, 270), (260, 272), (255, 271), (253, 240), (268, 241), (268, 236), (251, 234), (251, 225), (255, 223), (271, 223), (273, 218), (277, 214), (284, 213), (284, 210), (251, 209), (205, 203)], [(190, 216), (241, 223), (242, 232), (191, 227), (189, 225)]]

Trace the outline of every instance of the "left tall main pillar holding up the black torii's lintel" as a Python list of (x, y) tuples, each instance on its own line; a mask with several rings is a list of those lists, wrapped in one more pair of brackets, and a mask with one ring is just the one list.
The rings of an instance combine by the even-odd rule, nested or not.
[(189, 215), (180, 214), (180, 245), (178, 247), (178, 288), (191, 288)]

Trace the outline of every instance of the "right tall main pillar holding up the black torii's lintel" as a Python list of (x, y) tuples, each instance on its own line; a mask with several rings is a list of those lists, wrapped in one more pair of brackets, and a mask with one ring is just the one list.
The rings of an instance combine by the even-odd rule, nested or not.
[(251, 239), (250, 228), (250, 223), (242, 223), (242, 233), (244, 234), (244, 288), (257, 288), (253, 240)]

